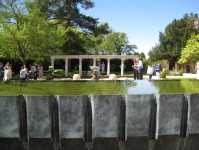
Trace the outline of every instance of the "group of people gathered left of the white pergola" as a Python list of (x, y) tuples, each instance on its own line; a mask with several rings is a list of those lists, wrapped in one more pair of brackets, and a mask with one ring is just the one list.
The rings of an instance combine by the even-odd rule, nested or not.
[[(41, 64), (34, 66), (29, 65), (30, 70), (26, 67), (26, 65), (23, 65), (21, 67), (21, 70), (19, 72), (20, 80), (26, 81), (28, 79), (42, 79), (43, 78), (43, 66)], [(10, 62), (7, 62), (4, 66), (2, 62), (0, 62), (0, 80), (1, 81), (7, 81), (12, 79), (12, 64)]]

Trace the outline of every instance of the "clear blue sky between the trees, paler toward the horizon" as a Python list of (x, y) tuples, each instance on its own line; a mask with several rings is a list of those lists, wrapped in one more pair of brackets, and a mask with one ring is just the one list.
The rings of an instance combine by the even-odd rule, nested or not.
[(95, 7), (84, 14), (107, 22), (114, 32), (126, 33), (136, 52), (148, 52), (159, 43), (163, 32), (174, 19), (185, 14), (198, 14), (199, 0), (92, 0)]

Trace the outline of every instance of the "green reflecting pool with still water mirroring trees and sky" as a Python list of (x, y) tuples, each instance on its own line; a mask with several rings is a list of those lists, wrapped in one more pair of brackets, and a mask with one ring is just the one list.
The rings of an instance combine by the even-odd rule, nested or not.
[(199, 80), (8, 81), (0, 95), (108, 95), (199, 93)]

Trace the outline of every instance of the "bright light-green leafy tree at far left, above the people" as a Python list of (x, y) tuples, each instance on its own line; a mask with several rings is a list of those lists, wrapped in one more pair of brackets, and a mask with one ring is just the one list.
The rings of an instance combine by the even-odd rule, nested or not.
[[(18, 5), (19, 2), (21, 5)], [(63, 27), (54, 28), (52, 22), (46, 20), (40, 12), (38, 3), (22, 2), (1, 1), (1, 53), (23, 63), (28, 59), (45, 58), (57, 53), (64, 42)]]

